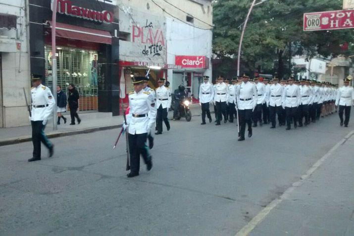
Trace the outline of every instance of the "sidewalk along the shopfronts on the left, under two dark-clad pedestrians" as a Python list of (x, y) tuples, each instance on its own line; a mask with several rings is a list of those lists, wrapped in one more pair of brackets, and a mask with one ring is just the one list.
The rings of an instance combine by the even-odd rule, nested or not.
[[(201, 114), (199, 104), (191, 106), (192, 116)], [(67, 118), (67, 123), (64, 124), (63, 120), (60, 121), (57, 130), (53, 130), (53, 120), (49, 120), (46, 127), (46, 134), (49, 138), (57, 138), (69, 135), (77, 135), (83, 133), (91, 133), (101, 130), (109, 130), (121, 127), (123, 124), (123, 116), (112, 116), (111, 112), (86, 112), (79, 113), (81, 118), (80, 125), (70, 124), (70, 114), (66, 112), (64, 116)], [(173, 111), (168, 112), (168, 118), (172, 119)], [(30, 124), (30, 122), (28, 122)], [(10, 145), (19, 142), (30, 142), (32, 128), (28, 126), (0, 128), (0, 146)]]

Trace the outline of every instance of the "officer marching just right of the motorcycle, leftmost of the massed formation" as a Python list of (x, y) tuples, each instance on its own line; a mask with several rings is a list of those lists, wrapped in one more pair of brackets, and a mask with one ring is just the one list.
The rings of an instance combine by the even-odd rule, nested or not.
[(211, 120), (209, 105), (212, 102), (214, 97), (214, 89), (213, 85), (209, 83), (209, 76), (204, 76), (204, 83), (201, 84), (201, 88), (199, 90), (199, 103), (202, 106), (202, 124), (205, 125), (205, 115), (209, 119), (209, 123)]

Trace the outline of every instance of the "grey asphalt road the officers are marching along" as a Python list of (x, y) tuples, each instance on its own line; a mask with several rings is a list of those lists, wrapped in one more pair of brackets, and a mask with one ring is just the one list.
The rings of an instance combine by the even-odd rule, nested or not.
[(353, 129), (334, 114), (237, 142), (235, 123), (200, 123), (171, 121), (133, 179), (118, 129), (53, 139), (33, 163), (31, 142), (1, 146), (0, 235), (233, 236)]

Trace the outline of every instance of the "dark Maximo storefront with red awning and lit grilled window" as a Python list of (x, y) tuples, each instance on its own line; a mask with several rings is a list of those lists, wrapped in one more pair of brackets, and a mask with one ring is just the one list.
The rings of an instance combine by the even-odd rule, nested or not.
[[(119, 114), (118, 8), (97, 0), (57, 0), (57, 85), (79, 91), (79, 110)], [(52, 86), (51, 3), (30, 0), (31, 73)]]

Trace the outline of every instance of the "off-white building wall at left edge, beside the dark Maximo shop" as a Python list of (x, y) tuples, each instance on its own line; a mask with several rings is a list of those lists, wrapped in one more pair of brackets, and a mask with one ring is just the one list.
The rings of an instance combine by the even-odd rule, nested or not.
[[(2, 59), (2, 124), (0, 127), (12, 127), (29, 124), (23, 94), (23, 87), (28, 91), (28, 96), (31, 88), (26, 27), (28, 21), (25, 0), (5, 2), (0, 2), (0, 13), (16, 15), (17, 29), (11, 30), (13, 32), (1, 31), (0, 33), (2, 35), (0, 37), (6, 36), (11, 42), (11, 48), (15, 48), (15, 52), (0, 52)], [(17, 48), (16, 43), (21, 44), (20, 49)]]

